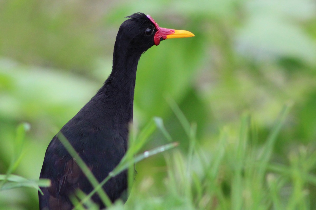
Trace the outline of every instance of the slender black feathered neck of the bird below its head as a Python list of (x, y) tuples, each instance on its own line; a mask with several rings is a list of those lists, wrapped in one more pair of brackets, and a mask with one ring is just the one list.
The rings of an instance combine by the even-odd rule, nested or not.
[(97, 95), (102, 97), (105, 118), (111, 116), (112, 125), (128, 126), (133, 120), (133, 100), (136, 71), (141, 53), (115, 43), (113, 67)]

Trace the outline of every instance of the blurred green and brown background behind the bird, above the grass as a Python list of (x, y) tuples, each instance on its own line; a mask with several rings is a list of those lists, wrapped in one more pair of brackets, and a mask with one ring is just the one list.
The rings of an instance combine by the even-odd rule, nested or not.
[[(166, 101), (171, 97), (197, 123), (197, 139), (206, 150), (222, 128), (234, 136), (245, 111), (255, 119), (260, 142), (290, 101), (294, 105), (272, 156), (286, 163), (299, 146), (314, 150), (315, 11), (309, 0), (0, 1), (0, 174), (9, 166), (16, 127), (28, 122), (14, 173), (38, 179), (48, 143), (106, 80), (118, 28), (135, 12), (150, 14), (161, 27), (195, 34), (165, 40), (141, 57), (137, 128), (159, 116), (180, 150), (187, 150), (187, 137)], [(157, 132), (146, 148), (167, 142)], [(136, 168), (134, 187), (150, 180), (159, 189), (166, 176), (162, 155)], [(311, 190), (315, 197), (315, 186)], [(35, 189), (0, 192), (0, 209), (37, 205)]]

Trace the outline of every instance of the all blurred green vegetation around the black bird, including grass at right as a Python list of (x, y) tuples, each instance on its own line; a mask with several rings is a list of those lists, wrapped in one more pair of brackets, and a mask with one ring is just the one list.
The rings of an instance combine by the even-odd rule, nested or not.
[[(195, 37), (165, 40), (140, 59), (134, 127), (159, 116), (179, 147), (137, 163), (125, 208), (315, 209), (315, 11), (308, 0), (0, 1), (0, 174), (28, 122), (13, 173), (38, 179), (55, 131), (109, 75), (124, 17), (143, 12)], [(170, 98), (197, 125), (201, 151), (190, 152)], [(143, 150), (167, 143), (156, 132)], [(2, 190), (0, 209), (37, 209), (37, 195)]]

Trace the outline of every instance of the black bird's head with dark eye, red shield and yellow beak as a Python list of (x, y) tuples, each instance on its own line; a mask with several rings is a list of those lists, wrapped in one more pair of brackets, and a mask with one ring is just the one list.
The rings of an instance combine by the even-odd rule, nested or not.
[(139, 48), (145, 52), (153, 45), (159, 45), (164, 39), (194, 37), (190, 31), (174, 30), (159, 27), (150, 15), (135, 13), (127, 16), (119, 28), (117, 40), (123, 38), (129, 40), (130, 46)]

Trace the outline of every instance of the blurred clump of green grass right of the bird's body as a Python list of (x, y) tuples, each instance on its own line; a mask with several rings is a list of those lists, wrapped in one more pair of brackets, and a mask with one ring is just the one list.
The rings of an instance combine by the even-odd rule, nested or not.
[[(304, 189), (315, 184), (316, 151), (300, 148), (289, 156), (290, 164), (273, 160), (272, 151), (289, 110), (289, 105), (283, 107), (264, 145), (255, 140), (254, 122), (245, 114), (234, 141), (225, 129), (215, 148), (195, 145), (191, 161), (190, 150), (167, 154), (164, 194), (148, 195), (151, 189), (144, 192), (140, 187), (126, 209), (313, 209), (310, 192)], [(182, 113), (176, 111), (176, 115), (185, 127)], [(188, 138), (192, 141), (194, 136)], [(207, 154), (210, 158), (204, 158)], [(120, 209), (121, 204), (117, 205)]]

